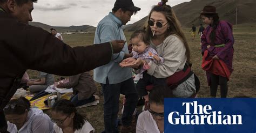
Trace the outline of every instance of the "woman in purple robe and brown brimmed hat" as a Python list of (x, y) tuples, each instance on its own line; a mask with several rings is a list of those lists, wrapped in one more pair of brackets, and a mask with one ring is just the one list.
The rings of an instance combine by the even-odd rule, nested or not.
[[(208, 25), (201, 36), (201, 52), (204, 55), (207, 50), (206, 60), (218, 60), (225, 63), (230, 73), (232, 69), (234, 37), (232, 25), (227, 21), (220, 21), (215, 6), (207, 5), (200, 13), (200, 18)], [(207, 46), (210, 46), (207, 48)], [(212, 64), (212, 67), (216, 67)], [(206, 71), (208, 85), (210, 85), (211, 97), (215, 98), (220, 85), (221, 98), (227, 97), (228, 76), (220, 75), (218, 72)]]

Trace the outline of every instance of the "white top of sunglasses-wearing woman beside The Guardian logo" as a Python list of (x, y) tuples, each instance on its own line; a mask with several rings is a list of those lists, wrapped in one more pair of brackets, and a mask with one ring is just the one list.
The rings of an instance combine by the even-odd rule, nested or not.
[(149, 111), (139, 114), (136, 133), (160, 133), (157, 123)]

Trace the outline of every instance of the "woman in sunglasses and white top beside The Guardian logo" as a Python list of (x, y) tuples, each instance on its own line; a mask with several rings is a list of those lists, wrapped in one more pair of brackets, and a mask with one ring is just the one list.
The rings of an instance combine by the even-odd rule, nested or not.
[(138, 117), (136, 132), (164, 132), (164, 98), (172, 97), (169, 87), (155, 86), (149, 94), (149, 110)]

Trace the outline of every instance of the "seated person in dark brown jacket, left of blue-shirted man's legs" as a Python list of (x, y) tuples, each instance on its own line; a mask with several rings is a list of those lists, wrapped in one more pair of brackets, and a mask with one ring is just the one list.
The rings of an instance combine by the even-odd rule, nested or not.
[(77, 107), (95, 101), (96, 85), (90, 75), (90, 72), (80, 73), (70, 76), (68, 83), (59, 83), (58, 88), (73, 88), (73, 97), (71, 102)]

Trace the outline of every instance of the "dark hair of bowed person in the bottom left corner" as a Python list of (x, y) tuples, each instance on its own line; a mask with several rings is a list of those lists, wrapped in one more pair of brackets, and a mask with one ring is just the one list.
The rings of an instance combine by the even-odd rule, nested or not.
[(4, 114), (24, 114), (26, 110), (30, 109), (30, 102), (28, 99), (21, 97), (19, 99), (12, 99), (4, 107)]

